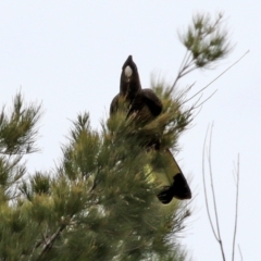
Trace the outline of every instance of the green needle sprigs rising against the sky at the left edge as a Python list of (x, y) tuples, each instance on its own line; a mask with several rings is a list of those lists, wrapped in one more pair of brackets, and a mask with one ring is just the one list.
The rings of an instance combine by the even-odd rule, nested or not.
[(13, 101), (11, 113), (0, 112), (0, 194), (3, 200), (17, 196), (15, 184), (26, 173), (23, 154), (37, 151), (37, 123), (40, 105), (23, 104), (21, 94)]

